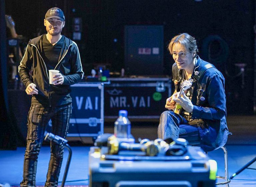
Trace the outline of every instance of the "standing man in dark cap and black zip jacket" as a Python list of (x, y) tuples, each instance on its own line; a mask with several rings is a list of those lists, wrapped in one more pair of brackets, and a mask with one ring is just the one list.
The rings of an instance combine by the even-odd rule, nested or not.
[[(70, 85), (81, 81), (84, 75), (76, 43), (61, 35), (65, 26), (63, 11), (57, 7), (49, 9), (44, 25), (47, 34), (30, 40), (19, 66), (26, 93), (32, 95), (22, 187), (36, 186), (37, 158), (48, 121), (52, 120), (53, 134), (66, 137), (72, 104)], [(52, 85), (49, 84), (49, 70), (59, 70)], [(58, 186), (63, 153), (63, 146), (51, 142), (45, 186)]]

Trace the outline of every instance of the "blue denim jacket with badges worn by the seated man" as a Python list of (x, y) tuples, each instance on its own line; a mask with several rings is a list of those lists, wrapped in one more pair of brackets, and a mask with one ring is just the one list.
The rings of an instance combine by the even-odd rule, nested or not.
[[(197, 56), (195, 71), (199, 72), (200, 79), (195, 79), (195, 71), (191, 78), (193, 82), (193, 94), (191, 102), (194, 105), (192, 119), (202, 119), (205, 123), (199, 123), (200, 146), (204, 151), (211, 151), (224, 146), (229, 134), (226, 122), (226, 95), (225, 79), (215, 67), (207, 69), (200, 75), (202, 67), (210, 64)], [(179, 71), (176, 63), (172, 67), (173, 81), (179, 80), (182, 71)], [(179, 75), (178, 75), (179, 74)], [(180, 90), (179, 83), (175, 85)]]

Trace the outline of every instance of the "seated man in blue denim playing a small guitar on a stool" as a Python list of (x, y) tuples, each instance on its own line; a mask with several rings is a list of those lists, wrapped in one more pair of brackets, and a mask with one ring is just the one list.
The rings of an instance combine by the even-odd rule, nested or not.
[[(172, 66), (175, 91), (166, 100), (165, 108), (169, 111), (161, 114), (158, 137), (182, 137), (204, 151), (224, 146), (230, 133), (223, 75), (196, 55), (196, 40), (187, 33), (175, 36), (168, 50), (175, 61)], [(192, 84), (185, 92), (181, 90), (184, 81)], [(177, 105), (181, 110), (177, 110)]]

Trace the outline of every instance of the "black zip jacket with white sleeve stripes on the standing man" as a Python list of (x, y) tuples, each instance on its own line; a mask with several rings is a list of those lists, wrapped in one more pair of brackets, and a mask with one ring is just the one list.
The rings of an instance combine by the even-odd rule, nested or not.
[[(41, 35), (29, 41), (25, 54), (20, 62), (19, 75), (27, 88), (30, 83), (36, 85), (38, 94), (32, 95), (31, 104), (43, 106), (60, 106), (72, 102), (70, 85), (83, 79), (84, 72), (80, 60), (80, 54), (75, 42), (64, 37), (63, 54), (55, 67), (64, 77), (62, 85), (49, 84), (49, 72), (42, 58)], [(32, 69), (32, 77), (29, 71)]]

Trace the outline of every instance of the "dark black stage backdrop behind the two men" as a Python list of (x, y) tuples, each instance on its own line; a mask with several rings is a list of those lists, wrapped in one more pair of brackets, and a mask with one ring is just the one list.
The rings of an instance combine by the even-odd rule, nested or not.
[[(124, 67), (124, 26), (164, 26), (164, 74), (170, 75), (173, 60), (169, 40), (187, 32), (197, 39), (199, 56), (213, 63), (226, 78), (228, 114), (253, 114), (255, 1), (218, 0), (45, 0), (6, 1), (18, 34), (30, 38), (45, 33), (45, 12), (57, 6), (66, 15), (63, 34), (72, 38), (72, 19), (82, 18), (79, 45), (87, 75), (95, 64), (111, 71)], [(117, 42), (114, 42), (117, 39)], [(235, 64), (245, 63), (244, 85)]]

